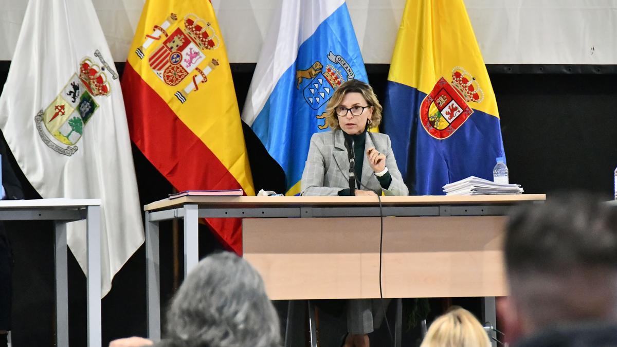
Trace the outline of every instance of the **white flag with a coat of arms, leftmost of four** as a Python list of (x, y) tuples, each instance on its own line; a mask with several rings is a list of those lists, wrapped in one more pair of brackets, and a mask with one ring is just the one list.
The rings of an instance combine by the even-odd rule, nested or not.
[[(122, 90), (89, 0), (30, 0), (0, 128), (43, 198), (101, 199), (101, 291), (144, 241)], [(86, 223), (67, 225), (86, 272)]]

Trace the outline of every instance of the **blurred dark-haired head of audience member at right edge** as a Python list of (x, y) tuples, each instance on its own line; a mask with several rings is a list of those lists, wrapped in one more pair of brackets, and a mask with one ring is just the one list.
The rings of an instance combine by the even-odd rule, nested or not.
[(508, 328), (617, 321), (617, 214), (589, 194), (521, 207), (507, 225)]

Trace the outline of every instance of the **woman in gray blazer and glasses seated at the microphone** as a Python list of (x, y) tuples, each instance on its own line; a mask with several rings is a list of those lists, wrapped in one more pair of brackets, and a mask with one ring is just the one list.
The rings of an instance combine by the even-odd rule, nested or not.
[[(381, 104), (370, 85), (349, 80), (334, 92), (326, 107), (330, 132), (315, 133), (302, 173), (301, 195), (350, 195), (349, 154), (353, 147), (355, 195), (408, 195), (396, 165), (390, 137), (368, 132), (381, 122)], [(352, 143), (352, 145), (349, 145)], [(347, 337), (343, 346), (368, 346), (368, 333), (381, 324), (379, 300), (347, 301)]]

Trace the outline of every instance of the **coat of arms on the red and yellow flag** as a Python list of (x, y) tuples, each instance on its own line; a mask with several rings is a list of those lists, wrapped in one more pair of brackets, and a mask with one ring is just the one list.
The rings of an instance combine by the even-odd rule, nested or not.
[(137, 48), (135, 54), (144, 59), (144, 52), (160, 42), (149, 54), (147, 61), (152, 71), (168, 86), (184, 87), (174, 94), (182, 103), (191, 91), (199, 90), (199, 83), (207, 82), (207, 75), (218, 66), (216, 59), (207, 59), (207, 52), (220, 46), (220, 39), (212, 25), (194, 14), (187, 14), (178, 22), (170, 14), (160, 25), (154, 25), (152, 34)]

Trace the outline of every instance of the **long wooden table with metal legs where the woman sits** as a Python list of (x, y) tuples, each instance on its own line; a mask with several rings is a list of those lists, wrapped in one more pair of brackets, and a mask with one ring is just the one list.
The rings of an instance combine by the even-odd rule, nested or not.
[[(504, 215), (542, 203), (544, 194), (500, 196), (185, 196), (144, 206), (148, 333), (160, 337), (160, 220), (184, 219), (184, 275), (199, 261), (203, 217), (241, 217), (244, 257), (271, 299), (379, 298), (379, 239), (384, 298), (507, 295)], [(381, 209), (380, 209), (381, 203)], [(491, 313), (492, 312), (492, 313)]]

